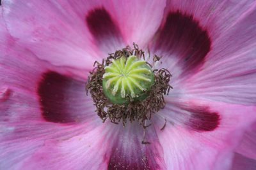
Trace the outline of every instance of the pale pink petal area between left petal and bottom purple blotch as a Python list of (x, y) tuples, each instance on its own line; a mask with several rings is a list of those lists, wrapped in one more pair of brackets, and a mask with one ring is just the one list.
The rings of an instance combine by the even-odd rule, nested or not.
[(108, 145), (106, 126), (62, 140), (45, 141), (36, 152), (20, 164), (20, 169), (107, 169)]

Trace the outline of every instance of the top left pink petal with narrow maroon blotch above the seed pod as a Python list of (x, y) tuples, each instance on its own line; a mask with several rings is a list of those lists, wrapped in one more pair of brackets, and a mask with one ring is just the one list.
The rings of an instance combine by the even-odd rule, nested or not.
[(4, 1), (3, 17), (12, 36), (40, 59), (84, 69), (127, 43), (145, 45), (164, 6), (165, 1)]

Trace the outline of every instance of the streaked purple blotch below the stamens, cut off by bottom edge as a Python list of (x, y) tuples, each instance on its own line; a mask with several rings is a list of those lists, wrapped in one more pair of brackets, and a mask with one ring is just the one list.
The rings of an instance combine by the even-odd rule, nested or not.
[[(149, 124), (149, 122), (148, 122)], [(119, 125), (113, 136), (113, 146), (109, 148), (109, 169), (166, 169), (163, 160), (163, 148), (159, 145), (153, 126), (147, 128), (143, 141), (143, 128), (137, 122)]]

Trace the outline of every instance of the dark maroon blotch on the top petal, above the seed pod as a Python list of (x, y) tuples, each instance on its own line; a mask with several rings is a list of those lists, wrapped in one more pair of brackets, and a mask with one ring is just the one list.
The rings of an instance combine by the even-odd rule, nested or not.
[(111, 39), (121, 42), (120, 30), (104, 8), (96, 8), (90, 11), (86, 15), (86, 23), (95, 41), (100, 45), (107, 43)]

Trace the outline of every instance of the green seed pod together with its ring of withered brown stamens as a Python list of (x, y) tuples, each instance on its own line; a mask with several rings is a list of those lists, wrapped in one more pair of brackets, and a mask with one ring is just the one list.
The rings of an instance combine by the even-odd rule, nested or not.
[[(153, 62), (159, 60), (154, 55)], [(109, 54), (102, 63), (95, 62), (88, 78), (86, 90), (92, 96), (97, 114), (103, 122), (123, 125), (138, 121), (145, 127), (153, 113), (164, 108), (164, 95), (168, 94), (170, 72), (154, 69), (145, 61), (144, 52), (134, 44)]]

